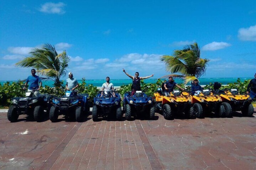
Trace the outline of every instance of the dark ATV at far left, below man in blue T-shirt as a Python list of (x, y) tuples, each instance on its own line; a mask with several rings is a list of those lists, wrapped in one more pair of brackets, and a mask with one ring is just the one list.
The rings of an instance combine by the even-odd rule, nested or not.
[(49, 113), (49, 103), (51, 101), (51, 95), (40, 94), (38, 97), (34, 95), (34, 92), (38, 89), (26, 92), (26, 97), (14, 97), (11, 99), (12, 105), (8, 109), (7, 118), (10, 122), (16, 122), (19, 115), (26, 114), (32, 116), (35, 121), (41, 121), (45, 114), (44, 110)]

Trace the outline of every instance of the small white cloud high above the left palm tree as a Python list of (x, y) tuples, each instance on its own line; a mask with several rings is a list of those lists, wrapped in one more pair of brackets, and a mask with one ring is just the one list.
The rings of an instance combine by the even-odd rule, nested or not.
[(39, 11), (48, 13), (48, 14), (64, 14), (66, 11), (64, 11), (64, 6), (66, 4), (59, 2), (59, 3), (52, 3), (52, 2), (46, 2), (45, 4), (41, 5), (41, 8)]

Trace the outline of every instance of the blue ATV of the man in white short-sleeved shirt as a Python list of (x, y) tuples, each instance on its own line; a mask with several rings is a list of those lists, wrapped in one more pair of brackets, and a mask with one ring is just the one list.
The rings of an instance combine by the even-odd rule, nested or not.
[[(113, 92), (115, 96), (113, 97)], [(117, 120), (121, 120), (123, 117), (121, 98), (116, 91), (103, 92), (103, 96), (100, 97), (101, 91), (94, 97), (94, 106), (92, 109), (92, 119), (97, 121), (98, 117), (115, 116)]]

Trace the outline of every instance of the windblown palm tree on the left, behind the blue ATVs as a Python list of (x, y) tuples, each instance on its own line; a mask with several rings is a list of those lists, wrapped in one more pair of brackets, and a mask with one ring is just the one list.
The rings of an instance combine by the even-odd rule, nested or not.
[(64, 50), (61, 54), (58, 54), (54, 46), (44, 44), (42, 48), (34, 48), (30, 54), (30, 57), (25, 57), (15, 65), (33, 67), (39, 75), (52, 78), (54, 85), (61, 87), (63, 83), (60, 78), (67, 74), (68, 62), (70, 61), (66, 51)]

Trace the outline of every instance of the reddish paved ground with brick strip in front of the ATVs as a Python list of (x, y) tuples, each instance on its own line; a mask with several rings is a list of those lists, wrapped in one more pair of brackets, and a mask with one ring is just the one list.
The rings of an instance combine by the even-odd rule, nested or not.
[(0, 113), (1, 169), (255, 169), (254, 117), (84, 122)]

